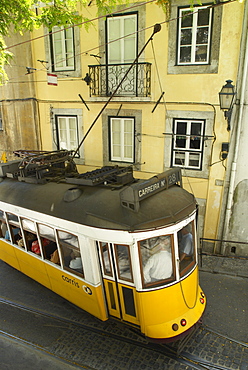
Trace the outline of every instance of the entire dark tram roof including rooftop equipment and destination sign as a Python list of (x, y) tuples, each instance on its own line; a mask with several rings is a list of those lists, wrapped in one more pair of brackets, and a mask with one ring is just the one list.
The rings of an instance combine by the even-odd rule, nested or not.
[(181, 170), (148, 180), (132, 167), (77, 172), (69, 151), (24, 152), (0, 164), (0, 201), (78, 224), (138, 231), (175, 224), (196, 208), (181, 186)]

